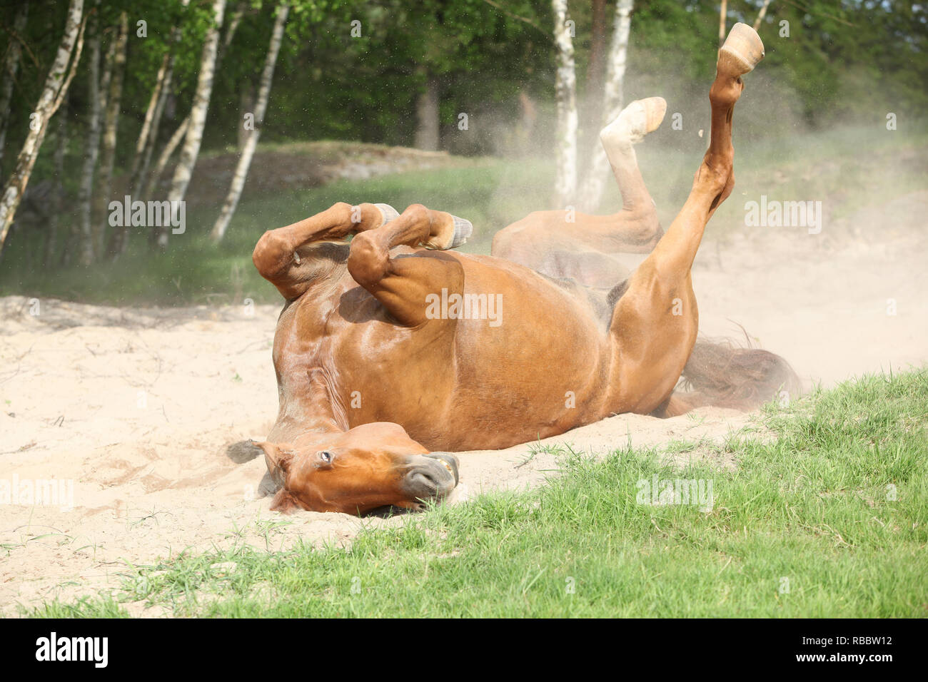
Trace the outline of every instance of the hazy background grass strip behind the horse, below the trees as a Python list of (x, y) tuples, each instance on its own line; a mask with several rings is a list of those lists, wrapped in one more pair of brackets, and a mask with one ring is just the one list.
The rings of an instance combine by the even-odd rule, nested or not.
[[(844, 127), (756, 139), (736, 133), (735, 193), (715, 214), (706, 238), (745, 229), (744, 201), (757, 200), (761, 194), (769, 199), (821, 200), (831, 230), (836, 219), (860, 208), (923, 189), (928, 134), (922, 128), (920, 123), (903, 133), (881, 126)], [(690, 191), (705, 140), (695, 134), (684, 136), (666, 125), (653, 137), (638, 149), (638, 160), (661, 220), (669, 225)], [(336, 154), (338, 145), (291, 147), (292, 153), (312, 148), (314, 154), (326, 158)], [(348, 154), (364, 149), (350, 143), (343, 147)], [(269, 148), (284, 149), (280, 145)], [(486, 159), (456, 168), (282, 191), (270, 197), (246, 196), (219, 247), (206, 238), (217, 210), (190, 209), (187, 233), (174, 236), (167, 252), (153, 252), (146, 238), (133, 235), (130, 252), (120, 261), (89, 268), (43, 266), (40, 254), (45, 234), (32, 230), (14, 235), (7, 246), (0, 266), (0, 295), (115, 304), (240, 303), (246, 298), (278, 302), (277, 290), (251, 264), (251, 250), (264, 230), (302, 220), (336, 201), (385, 201), (400, 210), (419, 202), (470, 219), (474, 237), (462, 251), (488, 253), (498, 229), (529, 212), (553, 208), (552, 185), (553, 169), (543, 161)], [(610, 184), (601, 212), (619, 206), (618, 189)], [(63, 220), (62, 224), (70, 223)]]

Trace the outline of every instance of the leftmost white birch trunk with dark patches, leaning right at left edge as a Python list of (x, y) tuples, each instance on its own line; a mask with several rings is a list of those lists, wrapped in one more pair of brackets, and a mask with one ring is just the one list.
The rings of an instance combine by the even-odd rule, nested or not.
[[(52, 68), (45, 77), (42, 95), (39, 96), (35, 111), (30, 117), (29, 135), (26, 135), (26, 141), (19, 151), (16, 168), (13, 169), (13, 174), (6, 182), (3, 196), (0, 198), (0, 249), (6, 242), (6, 235), (9, 233), (9, 226), (13, 223), (13, 216), (19, 207), (22, 193), (29, 184), (29, 176), (32, 174), (35, 159), (45, 139), (48, 121), (61, 106), (61, 100), (68, 92), (71, 79), (77, 71), (81, 50), (84, 48), (84, 24), (81, 21), (83, 14), (84, 0), (71, 0), (71, 5), (68, 7), (68, 19), (64, 25), (64, 35), (61, 36), (61, 42), (58, 44), (58, 53), (52, 63)], [(72, 53), (73, 59), (71, 59)], [(69, 61), (71, 61), (71, 71), (68, 71)], [(66, 71), (68, 71), (67, 76)]]

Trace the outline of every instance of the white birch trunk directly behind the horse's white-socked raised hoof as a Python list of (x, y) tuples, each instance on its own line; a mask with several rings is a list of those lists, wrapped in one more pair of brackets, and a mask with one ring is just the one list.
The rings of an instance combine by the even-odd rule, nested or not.
[[(602, 95), (600, 128), (604, 128), (613, 122), (625, 104), (623, 91), (632, 5), (633, 0), (619, 0), (615, 6), (612, 42), (609, 45), (609, 62), (606, 66), (606, 84), (603, 87)], [(590, 149), (589, 166), (580, 193), (580, 206), (584, 211), (593, 212), (597, 210), (599, 200), (602, 199), (602, 191), (611, 176), (609, 158), (599, 142), (599, 135), (597, 135), (593, 140), (593, 147)]]

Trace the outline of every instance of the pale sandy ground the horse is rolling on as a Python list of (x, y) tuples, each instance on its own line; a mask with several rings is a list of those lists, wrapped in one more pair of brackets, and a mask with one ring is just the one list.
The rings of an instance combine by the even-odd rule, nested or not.
[[(835, 230), (850, 238), (757, 228), (707, 242), (693, 273), (703, 330), (737, 336), (737, 321), (807, 384), (921, 366), (926, 209), (922, 192)], [(37, 305), (0, 299), (0, 498), (4, 484), (7, 495), (14, 483), (21, 495), (21, 482), (55, 480), (63, 489), (43, 491), (42, 504), (21, 496), (0, 504), (0, 613), (118, 586), (130, 564), (185, 550), (343, 543), (362, 525), (404, 521), (281, 516), (268, 510), (263, 458), (237, 463), (249, 456), (240, 443), (264, 437), (276, 415), (277, 306)], [(755, 428), (752, 419), (713, 408), (667, 420), (622, 415), (541, 444), (602, 453), (718, 441)], [(543, 481), (557, 462), (538, 449), (462, 454), (453, 502)]]

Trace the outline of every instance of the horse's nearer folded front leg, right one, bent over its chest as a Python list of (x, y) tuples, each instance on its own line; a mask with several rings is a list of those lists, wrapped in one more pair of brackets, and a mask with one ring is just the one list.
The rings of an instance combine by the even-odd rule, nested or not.
[(401, 325), (424, 325), (429, 295), (462, 292), (464, 269), (448, 254), (416, 249), (453, 249), (465, 233), (470, 235), (468, 221), (413, 204), (390, 223), (352, 239), (348, 272)]

